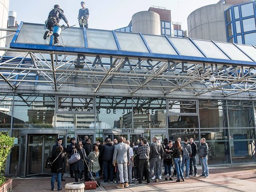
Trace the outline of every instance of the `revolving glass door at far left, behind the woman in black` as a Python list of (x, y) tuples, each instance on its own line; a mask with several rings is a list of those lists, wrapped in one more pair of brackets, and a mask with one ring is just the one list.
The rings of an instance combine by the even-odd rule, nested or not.
[[(38, 134), (38, 132), (41, 133)], [(64, 146), (66, 145), (65, 137), (65, 130), (22, 130), (18, 167), (19, 176), (28, 177), (50, 174), (51, 169), (45, 168), (46, 160), (51, 156), (51, 149), (58, 138), (63, 138), (63, 144)]]

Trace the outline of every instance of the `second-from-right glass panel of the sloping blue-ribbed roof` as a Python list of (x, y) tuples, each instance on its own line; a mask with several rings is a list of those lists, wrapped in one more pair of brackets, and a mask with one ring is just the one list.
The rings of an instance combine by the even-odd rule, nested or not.
[(227, 55), (230, 56), (232, 60), (240, 60), (240, 61), (252, 61), (249, 57), (243, 54), (235, 45), (232, 43), (221, 43), (216, 42), (216, 44), (226, 52)]

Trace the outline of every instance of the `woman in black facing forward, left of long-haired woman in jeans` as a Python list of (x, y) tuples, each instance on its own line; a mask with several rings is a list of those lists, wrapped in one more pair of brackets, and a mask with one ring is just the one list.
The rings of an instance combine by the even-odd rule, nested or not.
[(168, 145), (165, 146), (165, 152), (164, 152), (164, 175), (165, 175), (165, 180), (167, 181), (167, 174), (169, 174), (169, 180), (173, 180), (171, 178), (171, 165), (172, 165), (172, 153), (173, 153), (174, 147), (172, 146), (172, 141), (170, 140), (168, 142)]

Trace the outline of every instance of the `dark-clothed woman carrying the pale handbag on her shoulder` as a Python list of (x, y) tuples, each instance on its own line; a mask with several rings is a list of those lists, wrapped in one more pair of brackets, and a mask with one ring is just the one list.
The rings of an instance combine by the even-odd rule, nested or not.
[(71, 169), (75, 173), (75, 181), (79, 182), (80, 180), (79, 178), (81, 178), (82, 171), (84, 170), (84, 163), (85, 163), (84, 161), (87, 160), (91, 162), (91, 160), (87, 158), (85, 154), (85, 149), (83, 148), (83, 145), (80, 142), (77, 142), (75, 149), (73, 149), (71, 153), (71, 156), (75, 153), (80, 155), (80, 159), (70, 165), (71, 165)]

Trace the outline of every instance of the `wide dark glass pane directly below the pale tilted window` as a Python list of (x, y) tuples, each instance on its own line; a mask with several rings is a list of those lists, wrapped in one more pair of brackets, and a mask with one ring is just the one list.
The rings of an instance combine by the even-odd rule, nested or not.
[(168, 128), (199, 128), (197, 115), (168, 115)]

